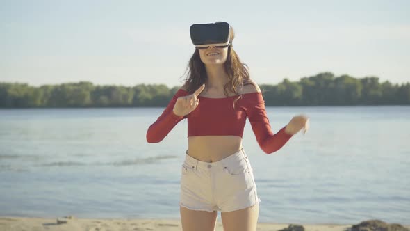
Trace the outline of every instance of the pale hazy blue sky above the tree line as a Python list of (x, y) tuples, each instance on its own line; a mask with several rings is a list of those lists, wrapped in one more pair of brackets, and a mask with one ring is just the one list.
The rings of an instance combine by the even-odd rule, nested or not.
[(181, 86), (191, 24), (228, 22), (259, 84), (410, 82), (410, 1), (0, 0), (0, 82)]

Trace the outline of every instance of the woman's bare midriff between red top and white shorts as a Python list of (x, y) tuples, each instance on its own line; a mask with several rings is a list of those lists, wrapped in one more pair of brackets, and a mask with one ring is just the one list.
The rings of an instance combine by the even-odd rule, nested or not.
[(208, 163), (220, 161), (242, 149), (240, 136), (190, 136), (188, 155)]

